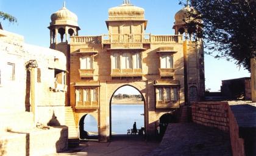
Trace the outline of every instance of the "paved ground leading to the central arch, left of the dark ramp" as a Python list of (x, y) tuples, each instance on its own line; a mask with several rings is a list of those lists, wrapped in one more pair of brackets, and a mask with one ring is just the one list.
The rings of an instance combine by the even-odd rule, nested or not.
[(146, 155), (157, 148), (159, 142), (144, 141), (138, 135), (114, 136), (109, 143), (98, 141), (82, 141), (79, 148), (71, 149), (60, 154), (48, 156), (88, 155), (88, 156), (140, 156)]

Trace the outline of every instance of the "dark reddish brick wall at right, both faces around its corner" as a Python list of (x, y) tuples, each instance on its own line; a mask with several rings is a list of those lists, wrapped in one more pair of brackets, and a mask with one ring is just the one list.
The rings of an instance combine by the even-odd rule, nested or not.
[[(240, 102), (241, 103), (241, 102)], [(240, 126), (228, 102), (200, 102), (192, 104), (193, 122), (229, 131), (233, 156), (244, 156), (246, 144)], [(238, 118), (238, 120), (240, 120)]]

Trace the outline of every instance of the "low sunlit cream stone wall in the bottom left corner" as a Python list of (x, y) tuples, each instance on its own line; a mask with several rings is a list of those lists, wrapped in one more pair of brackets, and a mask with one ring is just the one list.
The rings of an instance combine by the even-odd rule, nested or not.
[[(49, 128), (49, 129), (48, 129)], [(55, 126), (0, 134), (0, 155), (41, 156), (68, 149), (68, 127)]]

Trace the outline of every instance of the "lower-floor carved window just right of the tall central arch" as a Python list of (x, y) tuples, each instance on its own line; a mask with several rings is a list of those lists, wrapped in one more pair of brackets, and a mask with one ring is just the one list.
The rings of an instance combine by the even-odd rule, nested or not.
[(157, 87), (156, 88), (157, 101), (177, 101), (178, 89), (177, 87)]

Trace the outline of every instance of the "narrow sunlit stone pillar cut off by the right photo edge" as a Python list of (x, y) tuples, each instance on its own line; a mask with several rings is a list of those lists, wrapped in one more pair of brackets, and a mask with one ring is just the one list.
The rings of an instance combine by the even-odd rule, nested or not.
[(251, 58), (252, 102), (256, 102), (256, 58)]

